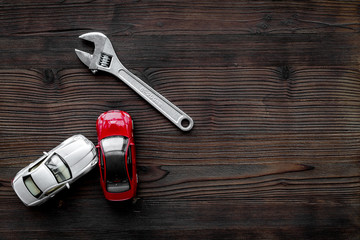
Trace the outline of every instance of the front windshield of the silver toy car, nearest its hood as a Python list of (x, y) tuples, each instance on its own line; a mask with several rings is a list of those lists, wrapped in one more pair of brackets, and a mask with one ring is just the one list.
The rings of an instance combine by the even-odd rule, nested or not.
[(60, 158), (59, 155), (57, 154), (52, 155), (51, 158), (45, 164), (54, 174), (56, 181), (58, 183), (64, 182), (71, 178), (71, 172), (69, 167)]

